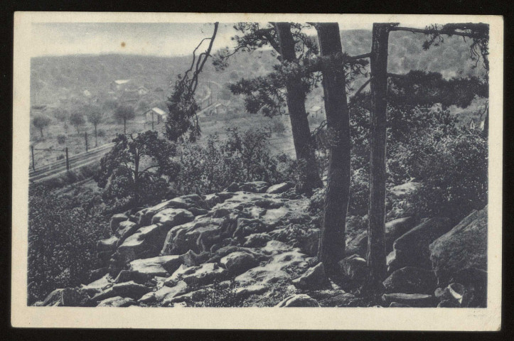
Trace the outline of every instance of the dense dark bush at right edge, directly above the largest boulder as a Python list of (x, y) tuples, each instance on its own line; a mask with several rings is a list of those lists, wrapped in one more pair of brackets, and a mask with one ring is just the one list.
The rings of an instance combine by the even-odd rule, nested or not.
[(480, 131), (464, 130), (443, 137), (432, 148), (419, 160), (422, 185), (412, 195), (416, 213), (456, 222), (471, 210), (481, 210), (488, 193), (487, 139)]

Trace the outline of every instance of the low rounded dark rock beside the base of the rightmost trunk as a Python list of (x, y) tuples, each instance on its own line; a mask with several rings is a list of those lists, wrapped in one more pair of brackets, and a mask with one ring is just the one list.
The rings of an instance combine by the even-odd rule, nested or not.
[(386, 293), (433, 293), (437, 279), (432, 271), (406, 266), (383, 282)]

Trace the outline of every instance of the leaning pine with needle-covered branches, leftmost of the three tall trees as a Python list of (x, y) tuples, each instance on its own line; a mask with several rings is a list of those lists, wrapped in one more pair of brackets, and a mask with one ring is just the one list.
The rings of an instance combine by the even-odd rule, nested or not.
[(242, 36), (234, 37), (237, 47), (232, 52), (218, 53), (214, 65), (223, 69), (230, 55), (237, 51), (256, 50), (264, 45), (271, 45), (279, 53), (281, 65), (274, 67), (274, 72), (254, 80), (242, 79), (232, 85), (231, 90), (234, 94), (245, 94), (245, 106), (250, 113), (261, 111), (265, 116), (281, 114), (282, 104), (287, 103), (296, 159), (305, 165), (306, 180), (300, 184), (299, 190), (311, 193), (313, 188), (322, 185), (305, 109), (306, 93), (316, 83), (316, 77), (311, 77), (311, 72), (303, 72), (301, 63), (315, 55), (317, 47), (301, 32), (302, 28), (304, 26), (299, 23), (269, 23), (264, 28), (259, 23), (238, 23), (235, 29)]

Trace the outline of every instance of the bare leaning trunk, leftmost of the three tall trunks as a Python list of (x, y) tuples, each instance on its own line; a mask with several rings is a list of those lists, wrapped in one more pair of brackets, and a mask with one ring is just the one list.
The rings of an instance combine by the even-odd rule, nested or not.
[[(296, 62), (291, 25), (289, 23), (274, 23), (274, 27), (279, 38), (279, 52), (280, 55), (282, 55), (283, 63)], [(289, 109), (289, 119), (291, 119), (296, 159), (304, 160), (306, 163), (306, 183), (301, 190), (306, 193), (311, 193), (313, 188), (321, 187), (323, 183), (321, 183), (316, 164), (314, 143), (312, 141), (309, 120), (305, 110), (305, 92), (301, 86), (301, 75), (291, 75), (288, 77), (286, 90), (287, 107)]]

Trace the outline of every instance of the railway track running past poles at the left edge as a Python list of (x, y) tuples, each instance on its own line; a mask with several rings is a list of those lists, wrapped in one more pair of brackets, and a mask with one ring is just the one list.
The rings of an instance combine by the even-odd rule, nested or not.
[[(114, 143), (104, 144), (100, 147), (90, 149), (90, 151), (70, 156), (70, 158), (68, 158), (70, 170), (73, 168), (87, 166), (91, 163), (99, 161), (100, 158), (102, 158), (102, 156), (104, 156), (105, 153), (107, 153), (113, 146)], [(28, 179), (33, 183), (38, 183), (43, 180), (48, 180), (50, 178), (55, 178), (59, 175), (63, 175), (64, 173), (66, 173), (66, 171), (68, 171), (68, 169), (66, 168), (66, 161), (61, 160), (53, 163), (48, 163), (45, 166), (36, 168), (36, 170), (31, 170), (28, 173)]]

